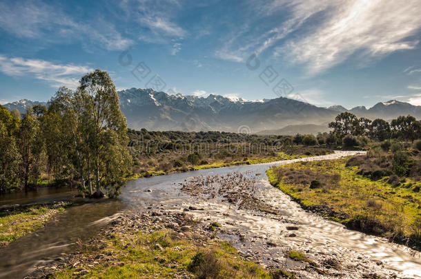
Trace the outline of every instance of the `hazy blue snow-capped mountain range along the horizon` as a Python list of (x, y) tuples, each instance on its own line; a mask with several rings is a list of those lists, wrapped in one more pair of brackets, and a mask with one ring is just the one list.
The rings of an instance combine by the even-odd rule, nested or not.
[[(421, 118), (421, 106), (391, 100), (373, 107), (317, 107), (309, 103), (280, 97), (247, 101), (210, 94), (191, 96), (166, 94), (152, 89), (131, 88), (118, 92), (121, 111), (133, 129), (244, 132), (260, 134), (315, 134), (326, 132), (327, 123), (340, 112), (367, 118), (390, 120), (411, 114)], [(20, 100), (3, 105), (22, 114), (29, 105), (43, 102)]]

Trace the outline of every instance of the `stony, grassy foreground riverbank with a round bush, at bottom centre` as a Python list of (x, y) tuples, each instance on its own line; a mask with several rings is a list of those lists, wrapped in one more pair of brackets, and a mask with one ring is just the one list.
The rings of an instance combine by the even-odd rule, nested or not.
[(239, 256), (211, 227), (185, 211), (118, 214), (74, 253), (29, 278), (279, 278)]

